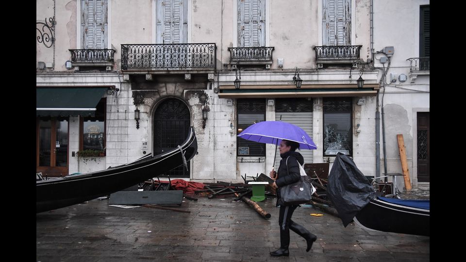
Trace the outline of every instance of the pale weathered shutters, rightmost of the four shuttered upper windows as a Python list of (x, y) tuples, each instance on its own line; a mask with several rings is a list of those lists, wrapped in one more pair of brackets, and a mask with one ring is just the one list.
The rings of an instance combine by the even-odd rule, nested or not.
[(322, 0), (322, 45), (351, 45), (351, 0)]

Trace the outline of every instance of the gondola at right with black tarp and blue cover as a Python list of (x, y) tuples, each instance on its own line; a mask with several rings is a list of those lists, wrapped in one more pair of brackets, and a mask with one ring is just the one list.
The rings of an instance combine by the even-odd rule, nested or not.
[(430, 200), (377, 196), (354, 161), (344, 154), (338, 153), (333, 163), (327, 197), (332, 200), (345, 227), (354, 221), (366, 229), (430, 235)]

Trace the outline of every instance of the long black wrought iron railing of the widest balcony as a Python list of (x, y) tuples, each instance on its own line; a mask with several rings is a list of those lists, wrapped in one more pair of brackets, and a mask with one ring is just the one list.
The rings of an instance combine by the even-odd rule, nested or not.
[(215, 43), (121, 45), (121, 69), (216, 68)]

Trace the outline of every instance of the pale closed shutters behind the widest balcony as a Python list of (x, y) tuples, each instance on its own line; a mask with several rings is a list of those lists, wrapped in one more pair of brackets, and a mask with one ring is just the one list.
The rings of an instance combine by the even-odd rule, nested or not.
[(188, 39), (187, 0), (157, 0), (157, 44), (180, 44)]

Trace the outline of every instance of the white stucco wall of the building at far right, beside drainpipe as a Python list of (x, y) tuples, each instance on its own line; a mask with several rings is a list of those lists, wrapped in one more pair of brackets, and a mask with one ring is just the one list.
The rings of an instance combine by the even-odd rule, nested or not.
[[(419, 75), (410, 78), (410, 63), (408, 58), (419, 57), (419, 7), (429, 4), (429, 0), (416, 1), (374, 1), (374, 50), (381, 51), (384, 47), (393, 46), (394, 54), (390, 58), (390, 69), (385, 81), (383, 96), (384, 122), (387, 152), (387, 172), (402, 173), (397, 134), (403, 134), (408, 170), (413, 186), (417, 185), (416, 160), (416, 112), (429, 112), (430, 108), (430, 77)], [(375, 55), (375, 66), (381, 67), (378, 59), (385, 57)], [(385, 63), (385, 68), (388, 62)], [(406, 82), (390, 82), (390, 73), (405, 74)], [(381, 141), (382, 141), (381, 124)], [(383, 144), (381, 144), (381, 173), (383, 167)]]

